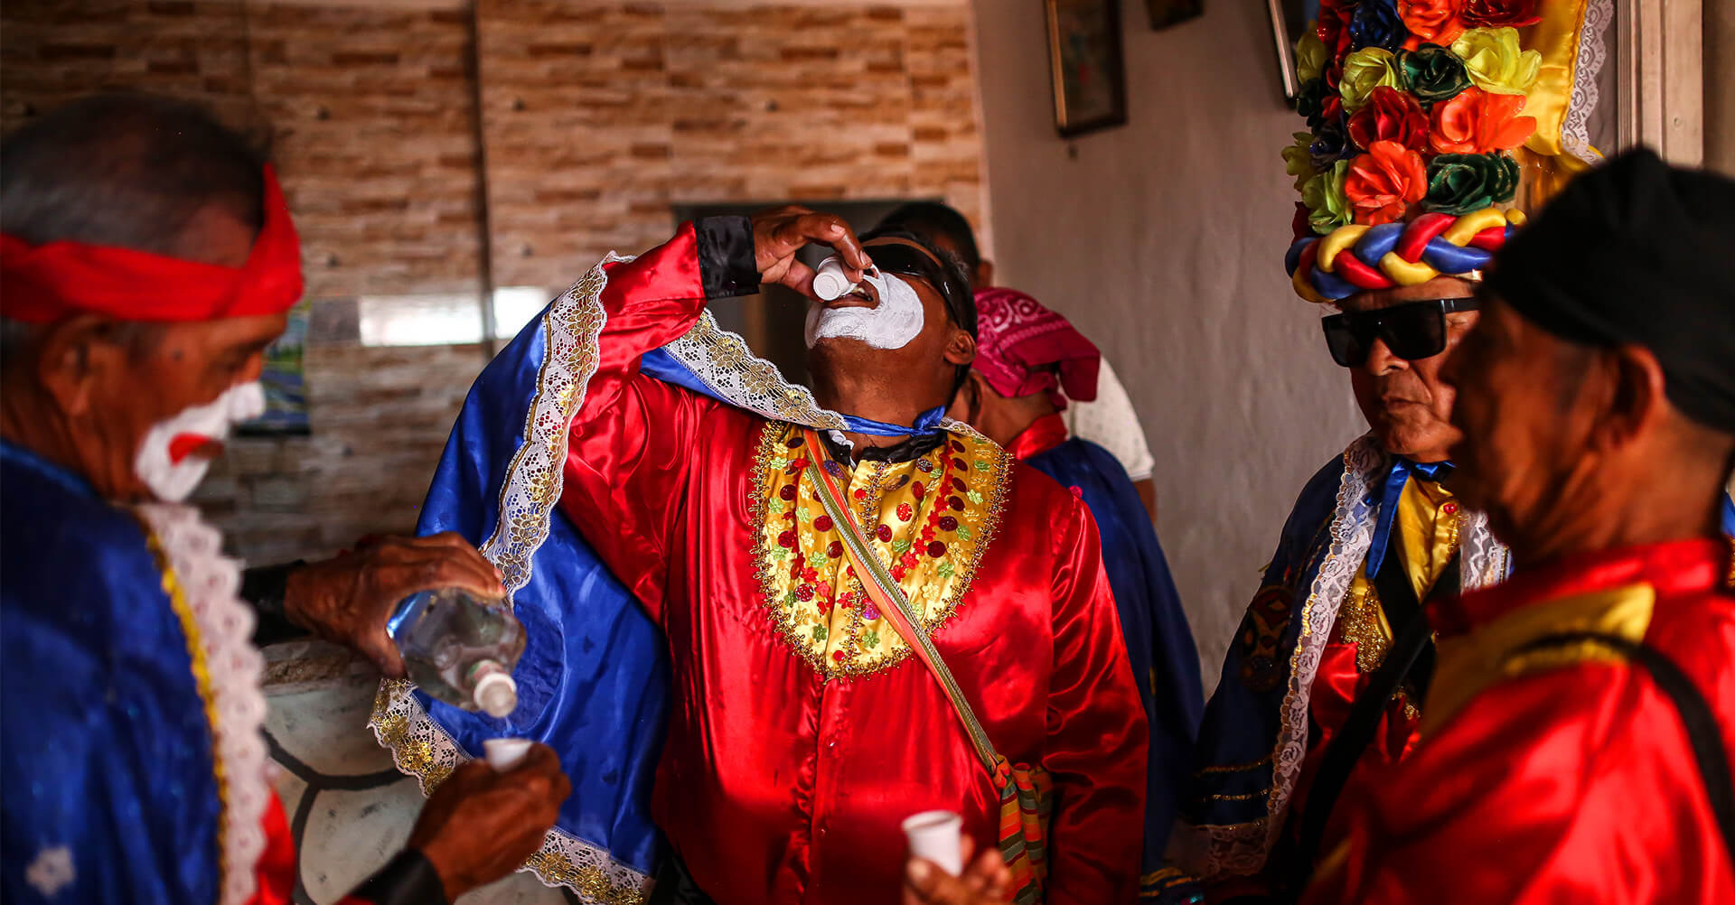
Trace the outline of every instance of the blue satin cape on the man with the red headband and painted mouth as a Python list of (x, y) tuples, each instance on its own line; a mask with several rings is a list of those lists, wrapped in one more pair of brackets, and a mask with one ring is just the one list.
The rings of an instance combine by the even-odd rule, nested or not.
[(212, 725), (146, 531), (0, 444), (0, 900), (222, 889)]

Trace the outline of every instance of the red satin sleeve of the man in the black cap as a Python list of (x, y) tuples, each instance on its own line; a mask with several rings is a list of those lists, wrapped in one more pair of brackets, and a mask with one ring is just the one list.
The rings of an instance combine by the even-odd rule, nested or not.
[(1372, 789), (1306, 905), (1709, 903), (1735, 891), (1679, 718), (1624, 664), (1501, 683)]

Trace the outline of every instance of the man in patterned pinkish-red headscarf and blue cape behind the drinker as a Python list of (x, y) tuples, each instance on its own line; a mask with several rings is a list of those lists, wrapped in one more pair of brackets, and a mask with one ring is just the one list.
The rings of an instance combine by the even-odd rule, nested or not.
[(1070, 437), (1062, 411), (1097, 397), (1100, 355), (1065, 317), (1017, 290), (980, 290), (977, 359), (951, 414), (1090, 506), (1121, 614), (1126, 654), (1150, 721), (1142, 886), (1161, 891), (1162, 850), (1176, 796), (1192, 773), (1204, 711), (1199, 652), (1175, 579), (1126, 468), (1103, 447)]

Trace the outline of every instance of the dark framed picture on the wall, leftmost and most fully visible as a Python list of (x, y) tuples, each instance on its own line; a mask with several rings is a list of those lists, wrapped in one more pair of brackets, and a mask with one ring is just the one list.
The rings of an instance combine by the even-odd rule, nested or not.
[(1119, 0), (1044, 0), (1055, 128), (1062, 137), (1126, 125)]

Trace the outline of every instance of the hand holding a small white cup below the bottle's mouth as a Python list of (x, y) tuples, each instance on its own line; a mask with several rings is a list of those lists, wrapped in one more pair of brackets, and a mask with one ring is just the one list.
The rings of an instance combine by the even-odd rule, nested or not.
[(573, 784), (548, 745), (531, 745), (507, 773), (474, 759), (429, 796), (408, 848), (434, 865), (446, 902), (456, 902), (529, 860), (569, 794)]

